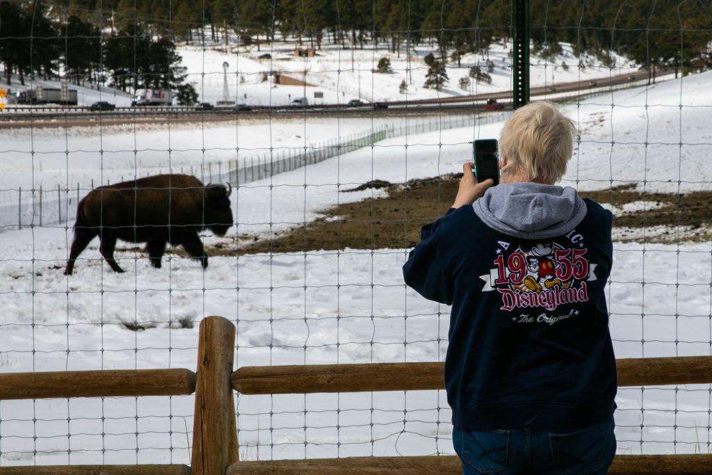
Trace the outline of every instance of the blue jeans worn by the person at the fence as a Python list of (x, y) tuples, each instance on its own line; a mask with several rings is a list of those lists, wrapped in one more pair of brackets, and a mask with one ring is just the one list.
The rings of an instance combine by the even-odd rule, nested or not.
[(616, 454), (614, 428), (613, 416), (579, 430), (454, 427), (452, 442), (464, 475), (604, 475)]

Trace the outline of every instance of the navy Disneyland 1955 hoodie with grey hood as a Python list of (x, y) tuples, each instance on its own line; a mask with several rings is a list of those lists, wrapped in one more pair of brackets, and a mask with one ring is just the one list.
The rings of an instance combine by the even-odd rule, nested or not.
[(403, 275), (452, 305), (454, 426), (575, 429), (610, 417), (611, 226), (612, 214), (574, 189), (533, 183), (492, 187), (423, 226)]

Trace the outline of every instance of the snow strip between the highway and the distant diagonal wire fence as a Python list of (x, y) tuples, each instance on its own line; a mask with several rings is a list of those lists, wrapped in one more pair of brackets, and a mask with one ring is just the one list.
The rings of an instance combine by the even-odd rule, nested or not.
[[(423, 120), (423, 119), (420, 119)], [(320, 147), (328, 140), (404, 120), (369, 118), (244, 119), (230, 122), (157, 122), (151, 125), (48, 127), (4, 130), (0, 140), (0, 188), (45, 189), (61, 184), (117, 182), (167, 172), (200, 174), (199, 168), (226, 171), (227, 162), (280, 155), (303, 147)], [(170, 150), (170, 152), (168, 152)], [(207, 170), (206, 170), (207, 175)]]

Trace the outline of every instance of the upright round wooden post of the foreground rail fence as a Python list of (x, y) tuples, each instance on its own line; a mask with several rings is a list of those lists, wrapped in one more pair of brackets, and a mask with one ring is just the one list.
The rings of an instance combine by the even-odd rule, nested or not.
[(237, 461), (231, 383), (235, 326), (222, 317), (200, 323), (193, 424), (193, 475), (221, 475)]

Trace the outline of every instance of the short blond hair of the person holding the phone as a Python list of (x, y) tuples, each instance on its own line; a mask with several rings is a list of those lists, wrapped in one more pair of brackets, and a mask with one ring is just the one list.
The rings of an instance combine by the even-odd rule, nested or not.
[(566, 173), (576, 133), (574, 122), (549, 102), (519, 108), (507, 120), (500, 144), (512, 167), (532, 182), (554, 183)]

